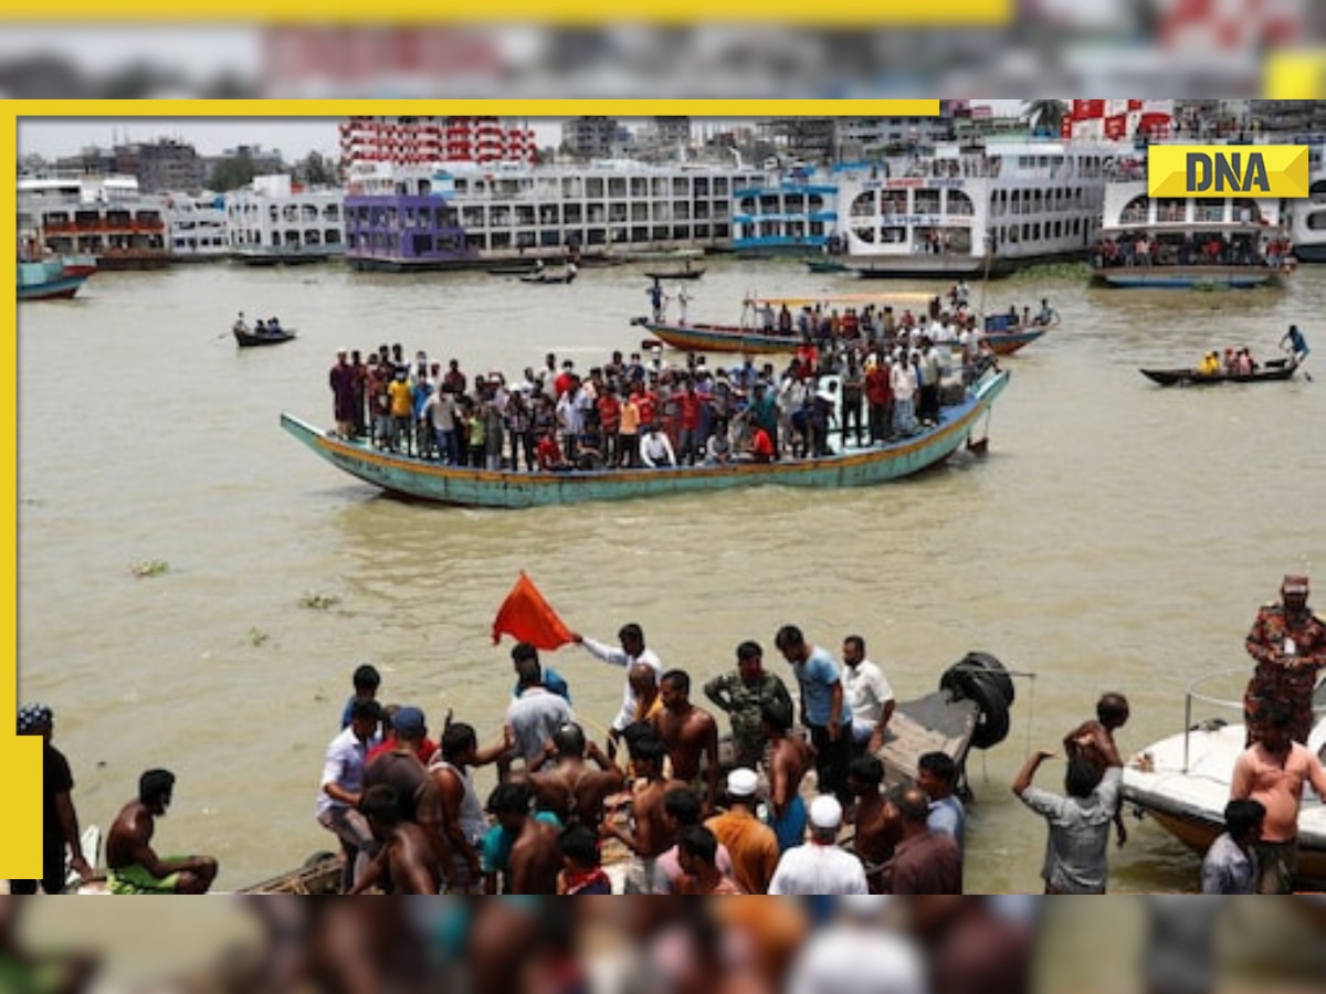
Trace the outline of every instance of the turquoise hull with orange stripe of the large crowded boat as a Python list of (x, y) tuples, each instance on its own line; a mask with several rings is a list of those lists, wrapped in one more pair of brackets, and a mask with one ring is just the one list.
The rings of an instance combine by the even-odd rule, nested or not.
[(361, 441), (338, 439), (290, 414), (281, 414), (281, 427), (358, 480), (390, 493), (459, 506), (542, 508), (769, 484), (837, 489), (888, 482), (943, 463), (967, 443), (972, 428), (991, 410), (1008, 380), (1006, 371), (989, 375), (963, 404), (945, 408), (937, 427), (911, 439), (822, 459), (769, 464), (569, 473), (489, 472), (381, 452)]

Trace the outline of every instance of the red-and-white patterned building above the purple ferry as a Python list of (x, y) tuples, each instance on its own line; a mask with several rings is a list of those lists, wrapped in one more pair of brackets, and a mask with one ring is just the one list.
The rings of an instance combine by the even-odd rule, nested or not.
[(492, 117), (358, 117), (341, 122), (341, 159), (346, 168), (377, 163), (533, 164), (537, 155), (533, 129)]

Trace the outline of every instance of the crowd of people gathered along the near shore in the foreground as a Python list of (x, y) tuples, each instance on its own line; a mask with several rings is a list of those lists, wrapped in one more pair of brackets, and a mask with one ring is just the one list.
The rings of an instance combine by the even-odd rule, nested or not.
[[(562, 675), (529, 643), (512, 649), (514, 688), (501, 729), (483, 744), (447, 714), (436, 741), (412, 705), (379, 702), (382, 677), (354, 671), (342, 730), (328, 746), (317, 822), (341, 843), (342, 891), (362, 893), (606, 895), (605, 856), (621, 855), (629, 895), (960, 895), (965, 811), (952, 755), (916, 757), (916, 777), (884, 791), (880, 746), (895, 714), (892, 689), (861, 636), (841, 661), (793, 624), (774, 645), (796, 692), (765, 668), (757, 641), (691, 700), (691, 676), (664, 669), (639, 624), (618, 644), (569, 634), (594, 659), (625, 671), (622, 705), (595, 741)], [(1281, 599), (1258, 610), (1246, 639), (1248, 747), (1232, 774), (1227, 831), (1207, 852), (1204, 893), (1292, 893), (1298, 810), (1307, 785), (1326, 797), (1326, 769), (1303, 742), (1326, 668), (1326, 623), (1307, 608), (1307, 578), (1286, 577)], [(1123, 759), (1115, 734), (1128, 702), (1105, 694), (1097, 717), (1063, 737), (1063, 793), (1034, 786), (1050, 751), (1033, 753), (1013, 793), (1048, 826), (1045, 893), (1105, 893)], [(728, 745), (720, 747), (720, 716)], [(64, 889), (89, 877), (72, 802), (69, 763), (52, 745), (54, 716), (19, 713), (19, 733), (45, 741), (44, 877), (13, 892)], [(497, 783), (481, 798), (475, 770)], [(175, 777), (147, 770), (111, 824), (113, 893), (203, 893), (217, 873), (203, 855), (162, 857), (152, 846)], [(68, 863), (68, 865), (66, 865)]]

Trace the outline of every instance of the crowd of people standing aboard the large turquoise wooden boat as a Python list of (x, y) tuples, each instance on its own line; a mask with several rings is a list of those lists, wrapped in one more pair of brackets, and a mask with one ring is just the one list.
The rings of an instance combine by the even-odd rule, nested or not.
[[(910, 437), (994, 357), (965, 284), (928, 313), (805, 307), (790, 362), (711, 368), (703, 355), (664, 366), (660, 349), (614, 351), (579, 370), (549, 353), (509, 380), (469, 375), (400, 345), (341, 349), (328, 382), (335, 435), (443, 465), (488, 470), (656, 468), (826, 456)], [(1042, 304), (1042, 313), (1049, 310)], [(1040, 315), (1038, 315), (1040, 317)], [(1032, 322), (1030, 310), (1022, 315)], [(1021, 321), (1012, 309), (1009, 321)], [(960, 364), (955, 368), (955, 349)], [(956, 386), (957, 396), (945, 386)]]

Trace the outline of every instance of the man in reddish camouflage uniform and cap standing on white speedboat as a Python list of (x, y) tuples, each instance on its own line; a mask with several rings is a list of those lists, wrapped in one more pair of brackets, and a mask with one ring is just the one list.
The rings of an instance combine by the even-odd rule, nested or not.
[(1313, 728), (1313, 689), (1326, 667), (1326, 623), (1307, 607), (1307, 578), (1285, 577), (1281, 600), (1257, 611), (1248, 634), (1248, 653), (1257, 660), (1244, 714), (1248, 744), (1260, 737), (1260, 716), (1268, 701), (1280, 701), (1292, 716), (1290, 737), (1307, 742)]

